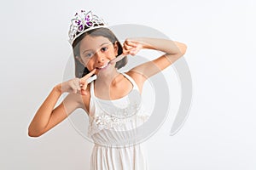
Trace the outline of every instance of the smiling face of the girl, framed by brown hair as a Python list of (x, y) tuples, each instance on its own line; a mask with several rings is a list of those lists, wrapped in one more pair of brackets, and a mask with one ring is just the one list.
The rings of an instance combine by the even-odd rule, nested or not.
[(118, 54), (118, 45), (112, 43), (107, 37), (90, 37), (85, 36), (80, 42), (80, 58), (79, 61), (87, 67), (89, 71), (96, 68), (99, 71), (105, 71), (109, 65), (109, 61), (114, 59)]

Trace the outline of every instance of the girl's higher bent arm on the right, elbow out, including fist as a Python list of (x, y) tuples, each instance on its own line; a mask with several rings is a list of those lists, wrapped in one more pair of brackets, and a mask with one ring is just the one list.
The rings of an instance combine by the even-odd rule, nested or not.
[(131, 77), (138, 80), (138, 84), (143, 84), (149, 77), (163, 71), (167, 66), (172, 65), (172, 63), (182, 57), (186, 52), (187, 46), (182, 42), (143, 37), (126, 40), (124, 48), (126, 53), (131, 55), (137, 54), (140, 49), (154, 49), (166, 53), (157, 59), (137, 65), (128, 72)]

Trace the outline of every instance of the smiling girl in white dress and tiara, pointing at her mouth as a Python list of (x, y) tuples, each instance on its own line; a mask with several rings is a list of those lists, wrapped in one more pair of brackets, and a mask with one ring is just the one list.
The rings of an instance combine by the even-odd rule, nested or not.
[[(69, 37), (76, 78), (55, 85), (33, 117), (28, 135), (38, 137), (82, 108), (90, 118), (89, 133), (95, 142), (90, 169), (148, 169), (141, 144), (136, 144), (137, 127), (145, 122), (143, 111), (139, 101), (129, 96), (133, 91), (141, 94), (144, 82), (183, 56), (186, 45), (140, 37), (127, 38), (122, 46), (104, 21), (91, 12), (82, 10), (72, 21)], [(126, 55), (134, 56), (141, 49), (165, 54), (120, 73), (118, 69), (127, 63)], [(88, 83), (93, 75), (96, 80)], [(55, 107), (63, 93), (69, 94)]]

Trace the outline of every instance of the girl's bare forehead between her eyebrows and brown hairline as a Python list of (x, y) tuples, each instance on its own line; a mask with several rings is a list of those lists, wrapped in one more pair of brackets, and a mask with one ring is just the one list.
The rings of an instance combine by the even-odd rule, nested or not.
[(85, 36), (80, 43), (80, 50), (89, 50), (99, 48), (103, 43), (111, 43), (107, 37)]

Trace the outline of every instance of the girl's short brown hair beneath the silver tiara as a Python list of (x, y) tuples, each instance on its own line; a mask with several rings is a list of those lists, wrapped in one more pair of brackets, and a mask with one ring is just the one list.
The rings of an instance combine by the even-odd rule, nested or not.
[[(86, 74), (88, 74), (90, 71), (84, 67), (84, 65), (82, 65), (78, 59), (76, 59), (76, 56), (80, 57), (80, 42), (81, 40), (87, 36), (90, 35), (91, 37), (107, 37), (108, 40), (112, 43), (117, 42), (118, 44), (118, 55), (123, 53), (123, 48), (118, 40), (117, 37), (115, 37), (115, 35), (113, 34), (112, 31), (110, 31), (108, 28), (105, 27), (101, 27), (101, 28), (96, 28), (90, 31), (86, 31), (84, 32), (84, 34), (82, 34), (81, 36), (79, 36), (77, 39), (75, 39), (75, 41), (73, 42), (72, 46), (73, 46), (73, 57), (74, 57), (74, 61), (75, 61), (75, 76), (76, 77), (84, 77)], [(117, 69), (122, 68), (123, 66), (125, 66), (127, 64), (127, 57), (125, 56), (124, 59), (119, 60), (115, 67)]]

